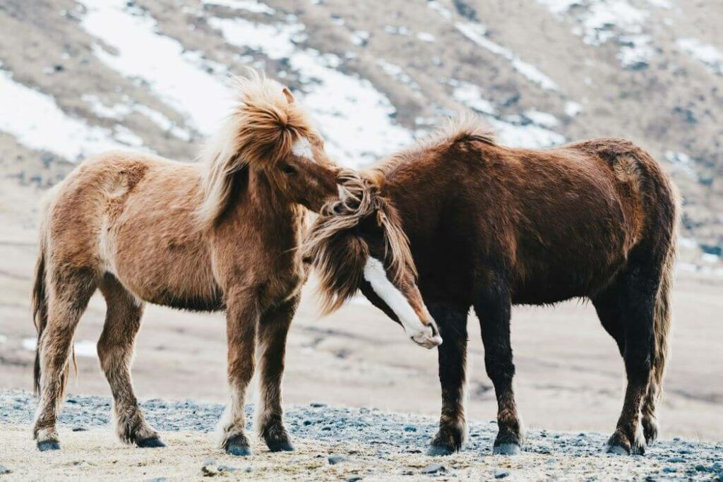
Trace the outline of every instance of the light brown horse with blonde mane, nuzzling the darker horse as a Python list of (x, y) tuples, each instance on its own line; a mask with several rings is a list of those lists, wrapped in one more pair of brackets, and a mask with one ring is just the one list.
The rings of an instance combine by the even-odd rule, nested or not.
[(271, 450), (293, 449), (282, 421), (281, 377), (307, 278), (296, 248), (307, 208), (337, 199), (338, 168), (286, 87), (253, 73), (236, 83), (238, 103), (200, 163), (108, 152), (48, 194), (33, 292), (40, 394), (33, 434), (41, 450), (60, 448), (56, 413), (73, 335), (98, 288), (108, 305), (98, 357), (124, 442), (164, 445), (143, 417), (130, 375), (150, 302), (226, 311), (231, 403), (223, 448), (251, 453), (244, 394), (258, 347), (257, 430)]

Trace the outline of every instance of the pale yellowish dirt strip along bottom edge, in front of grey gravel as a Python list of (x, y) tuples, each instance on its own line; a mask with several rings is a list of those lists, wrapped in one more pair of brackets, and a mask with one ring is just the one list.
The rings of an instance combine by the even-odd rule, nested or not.
[[(252, 442), (254, 456), (247, 459), (222, 454), (212, 435), (198, 432), (163, 432), (169, 446), (145, 450), (125, 447), (108, 429), (73, 432), (61, 430), (64, 449), (38, 454), (27, 449), (27, 427), (4, 425), (3, 458), (12, 461), (13, 471), (3, 480), (80, 479), (176, 481), (206, 477), (249, 480), (410, 480), (422, 478), (424, 470), (440, 469), (438, 480), (580, 480), (592, 474), (607, 480), (635, 480), (660, 473), (667, 464), (652, 457), (609, 457), (523, 452), (515, 457), (481, 456), (461, 452), (442, 459), (419, 453), (384, 452), (354, 442), (329, 443), (296, 439), (295, 452), (271, 453)], [(64, 433), (67, 432), (67, 433)], [(6, 438), (7, 437), (7, 438)], [(329, 454), (341, 455), (343, 462), (331, 465)], [(229, 470), (231, 468), (232, 470)], [(668, 469), (670, 470), (670, 469)], [(102, 474), (102, 475), (99, 475)], [(505, 475), (502, 475), (505, 474)], [(681, 474), (682, 475), (682, 474)], [(705, 477), (705, 473), (702, 473)], [(208, 479), (205, 479), (208, 480)]]

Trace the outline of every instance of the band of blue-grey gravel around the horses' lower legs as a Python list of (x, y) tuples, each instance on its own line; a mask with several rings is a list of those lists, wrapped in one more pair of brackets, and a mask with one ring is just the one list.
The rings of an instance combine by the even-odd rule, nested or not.
[[(215, 431), (223, 412), (218, 403), (198, 403), (193, 400), (146, 400), (141, 403), (147, 421), (160, 431)], [(27, 423), (33, 421), (36, 402), (32, 394), (24, 391), (0, 392), (0, 423)], [(247, 406), (249, 433), (253, 407)], [(385, 413), (368, 408), (335, 408), (323, 403), (306, 406), (287, 406), (285, 420), (291, 436), (297, 439), (312, 439), (345, 444), (354, 441), (368, 447), (380, 459), (391, 455), (409, 454), (419, 456), (426, 452), (431, 437), (437, 431), (435, 418)], [(64, 403), (59, 416), (61, 426), (68, 428), (93, 429), (111, 423), (111, 400), (106, 397), (71, 395)], [(492, 442), (497, 434), (494, 422), (471, 422), (469, 438), (462, 452), (480, 457), (492, 456)], [(562, 457), (596, 457), (597, 460), (615, 459), (612, 455), (601, 455), (607, 434), (597, 432), (549, 432), (531, 430), (526, 434), (522, 454), (534, 454), (540, 463), (549, 468), (559, 467)], [(352, 457), (353, 453), (350, 452)], [(325, 454), (329, 464), (348, 462), (338, 453)], [(498, 457), (514, 460), (515, 457)], [(625, 457), (623, 457), (625, 458)], [(420, 465), (418, 475), (450, 475), (454, 467), (442, 465), (445, 460), (428, 457), (426, 466)], [(495, 459), (497, 460), (497, 459)], [(620, 459), (617, 459), (620, 460)], [(651, 478), (677, 478), (685, 480), (720, 480), (723, 477), (723, 444), (690, 442), (683, 439), (662, 440), (648, 448), (645, 457), (628, 457), (634, 465), (646, 462), (650, 466)], [(638, 462), (636, 462), (636, 460)], [(344, 464), (346, 465), (346, 464)], [(223, 468), (222, 468), (223, 467)], [(204, 468), (208, 473), (230, 472), (231, 467), (219, 466), (213, 459), (206, 460)], [(493, 474), (495, 478), (512, 478), (504, 467)], [(1, 473), (2, 468), (0, 468)], [(451, 470), (451, 472), (450, 472)], [(210, 474), (209, 474), (210, 475)], [(413, 475), (413, 474), (410, 474)], [(516, 475), (515, 475), (516, 477)]]

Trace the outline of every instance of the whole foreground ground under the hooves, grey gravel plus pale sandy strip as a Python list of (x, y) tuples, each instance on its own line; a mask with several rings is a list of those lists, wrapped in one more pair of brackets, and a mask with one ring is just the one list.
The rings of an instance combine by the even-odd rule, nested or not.
[[(60, 416), (61, 452), (40, 453), (30, 437), (35, 410), (24, 391), (0, 393), (0, 473), (3, 480), (203, 477), (378, 480), (384, 478), (506, 480), (721, 480), (723, 444), (678, 438), (656, 442), (647, 455), (604, 455), (605, 434), (531, 430), (521, 455), (493, 456), (494, 421), (474, 421), (464, 449), (450, 457), (424, 451), (436, 429), (424, 416), (322, 402), (286, 408), (296, 452), (272, 454), (254, 442), (252, 457), (223, 454), (210, 434), (223, 405), (147, 400), (142, 408), (169, 447), (137, 449), (116, 439), (111, 401), (70, 395)], [(252, 407), (247, 407), (249, 419)], [(249, 430), (251, 424), (249, 423)]]

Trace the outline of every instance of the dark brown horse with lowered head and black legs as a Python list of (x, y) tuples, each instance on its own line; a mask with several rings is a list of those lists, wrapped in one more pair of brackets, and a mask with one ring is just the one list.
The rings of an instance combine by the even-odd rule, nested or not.
[[(674, 186), (647, 152), (622, 139), (510, 149), (463, 117), (370, 171), (345, 173), (343, 185), (343, 200), (312, 228), (307, 255), (334, 306), (360, 288), (393, 319), (400, 318), (388, 303), (393, 297), (366, 277), (369, 254), (385, 260), (393, 279), (409, 283), (418, 270), (424, 304), (444, 340), (442, 417), (432, 455), (460, 449), (466, 435), (470, 306), (497, 395), (494, 452), (513, 454), (523, 434), (513, 395), (510, 308), (578, 297), (594, 304), (628, 375), (607, 451), (642, 454), (640, 421), (646, 441), (656, 438), (678, 205)], [(413, 260), (388, 249), (390, 224), (408, 236)]]

